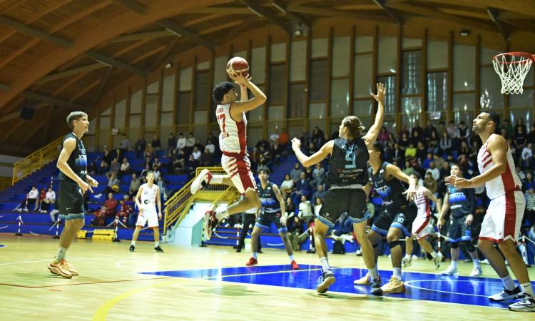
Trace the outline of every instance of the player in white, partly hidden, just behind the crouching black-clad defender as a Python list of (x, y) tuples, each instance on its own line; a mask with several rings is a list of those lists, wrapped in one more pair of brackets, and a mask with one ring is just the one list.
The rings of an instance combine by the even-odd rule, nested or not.
[[(414, 175), (414, 174), (412, 174)], [(411, 176), (412, 176), (411, 175)], [(418, 180), (417, 176), (413, 177)], [(440, 263), (442, 262), (442, 253), (437, 253), (433, 246), (427, 240), (427, 237), (431, 235), (427, 225), (431, 220), (431, 205), (429, 205), (429, 200), (432, 200), (433, 203), (437, 205), (437, 210), (440, 213), (442, 210), (442, 202), (431, 193), (431, 190), (424, 188), (423, 186), (418, 186), (416, 189), (416, 198), (414, 198), (414, 204), (418, 208), (418, 214), (414, 221), (412, 222), (412, 237), (416, 238), (418, 244), (429, 253), (433, 258), (434, 267), (438, 270)], [(402, 267), (409, 267), (412, 264), (412, 238), (405, 238), (405, 257), (402, 260)]]

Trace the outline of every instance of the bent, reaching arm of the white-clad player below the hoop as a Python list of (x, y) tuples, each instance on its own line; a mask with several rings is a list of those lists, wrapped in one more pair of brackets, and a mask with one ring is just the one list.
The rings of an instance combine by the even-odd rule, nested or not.
[(507, 141), (500, 135), (492, 135), (489, 140), (489, 146), (487, 148), (489, 149), (489, 153), (491, 153), (494, 166), (485, 173), (472, 179), (457, 178), (457, 180), (455, 180), (456, 188), (477, 188), (489, 180), (493, 180), (505, 173), (507, 168), (507, 148), (509, 148), (509, 146), (507, 146)]

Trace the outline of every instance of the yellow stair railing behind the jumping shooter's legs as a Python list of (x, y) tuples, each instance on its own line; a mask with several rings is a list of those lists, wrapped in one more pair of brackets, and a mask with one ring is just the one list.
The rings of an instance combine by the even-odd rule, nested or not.
[[(225, 170), (221, 167), (200, 167), (197, 168), (195, 172), (196, 175), (200, 173), (200, 170), (207, 168), (211, 173), (217, 175), (225, 175)], [(163, 234), (167, 232), (168, 228), (180, 223), (183, 220), (186, 214), (188, 214), (190, 206), (193, 204), (194, 200), (214, 200), (217, 199), (220, 195), (219, 193), (228, 190), (227, 185), (223, 184), (211, 184), (206, 185), (202, 190), (199, 190), (195, 195), (192, 195), (190, 192), (191, 183), (195, 178), (186, 183), (183, 188), (171, 196), (167, 201), (165, 201), (165, 218), (163, 220)], [(235, 189), (235, 188), (233, 188)]]

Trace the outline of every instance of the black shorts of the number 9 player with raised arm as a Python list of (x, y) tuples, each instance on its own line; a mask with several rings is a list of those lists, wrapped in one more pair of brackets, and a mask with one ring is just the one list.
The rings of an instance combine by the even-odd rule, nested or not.
[(317, 219), (329, 228), (343, 213), (348, 214), (352, 223), (360, 223), (370, 218), (367, 214), (366, 193), (360, 188), (335, 188), (327, 191)]

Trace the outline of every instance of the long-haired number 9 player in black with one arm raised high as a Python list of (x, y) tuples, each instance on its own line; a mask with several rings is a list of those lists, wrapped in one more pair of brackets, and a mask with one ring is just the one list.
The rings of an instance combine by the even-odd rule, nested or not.
[[(317, 280), (317, 292), (324, 293), (335, 282), (335, 275), (330, 270), (327, 262), (327, 245), (325, 233), (335, 226), (337, 219), (342, 213), (347, 212), (348, 218), (353, 223), (353, 230), (362, 247), (362, 258), (366, 267), (372, 272), (372, 280), (379, 284), (377, 270), (374, 270), (373, 248), (366, 238), (366, 222), (368, 219), (366, 206), (366, 192), (363, 189), (367, 185), (367, 161), (370, 157), (368, 149), (377, 140), (379, 129), (382, 127), (384, 117), (384, 93), (383, 83), (377, 83), (377, 95), (372, 97), (379, 103), (375, 121), (370, 130), (365, 133), (360, 119), (355, 116), (347, 116), (340, 123), (338, 136), (335, 140), (325, 143), (320, 151), (312, 156), (305, 156), (300, 150), (301, 142), (297, 138), (292, 139), (292, 149), (297, 159), (305, 167), (320, 163), (330, 155), (330, 168), (327, 172), (327, 183), (330, 190), (325, 196), (320, 214), (315, 220), (314, 243), (317, 256), (322, 264), (322, 275)], [(378, 285), (379, 286), (379, 285)]]

